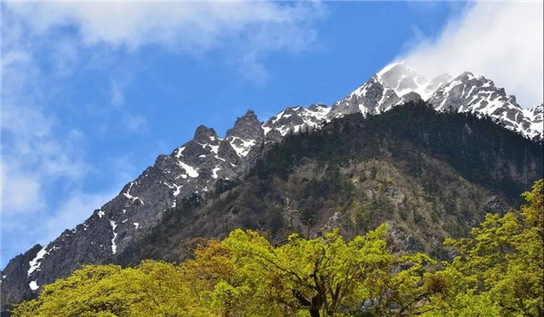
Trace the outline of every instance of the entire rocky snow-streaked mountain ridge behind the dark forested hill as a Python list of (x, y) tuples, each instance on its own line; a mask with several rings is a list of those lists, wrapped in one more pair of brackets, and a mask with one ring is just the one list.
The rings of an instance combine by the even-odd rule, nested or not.
[[(71, 274), (82, 264), (115, 263), (129, 245), (160, 223), (166, 210), (180, 204), (180, 199), (192, 194), (207, 197), (219, 179), (244, 178), (257, 160), (288, 134), (321, 129), (327, 120), (347, 114), (378, 114), (421, 99), (436, 110), (491, 116), (527, 138), (542, 136), (542, 104), (523, 110), (513, 96), (470, 72), (454, 79), (442, 74), (427, 82), (404, 66), (377, 73), (332, 108), (321, 104), (289, 107), (266, 122), (248, 110), (225, 139), (215, 130), (199, 126), (193, 139), (169, 155), (160, 155), (153, 166), (94, 210), (83, 224), (65, 230), (49, 245), (35, 245), (12, 259), (0, 275), (3, 309), (32, 297), (44, 284)], [(409, 245), (417, 249), (417, 245)]]

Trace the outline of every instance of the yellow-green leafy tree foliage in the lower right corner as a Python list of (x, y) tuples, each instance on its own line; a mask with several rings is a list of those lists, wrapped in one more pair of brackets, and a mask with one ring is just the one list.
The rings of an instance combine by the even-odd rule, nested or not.
[(471, 236), (452, 240), (458, 255), (441, 272), (451, 298), (437, 316), (542, 316), (542, 180), (523, 194), (520, 212), (487, 215)]

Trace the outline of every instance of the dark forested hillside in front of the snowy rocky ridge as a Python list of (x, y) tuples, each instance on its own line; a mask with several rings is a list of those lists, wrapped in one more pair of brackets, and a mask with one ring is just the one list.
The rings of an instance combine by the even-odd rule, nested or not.
[(293, 232), (314, 237), (335, 227), (351, 239), (382, 223), (393, 251), (448, 258), (444, 238), (468, 235), (488, 212), (518, 207), (520, 193), (541, 177), (541, 144), (490, 119), (409, 103), (288, 136), (248, 178), (219, 181), (207, 198), (180, 199), (117, 259), (180, 261), (195, 238), (236, 228), (285, 243)]

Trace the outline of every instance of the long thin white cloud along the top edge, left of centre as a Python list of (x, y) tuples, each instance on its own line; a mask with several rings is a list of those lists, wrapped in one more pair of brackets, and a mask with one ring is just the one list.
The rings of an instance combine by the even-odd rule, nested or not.
[[(274, 2), (33, 2), (6, 3), (6, 13), (38, 35), (75, 27), (87, 46), (107, 44), (136, 50), (158, 44), (173, 52), (219, 49), (229, 59), (266, 79), (267, 54), (308, 50), (316, 43), (314, 23), (322, 4)], [(235, 45), (233, 45), (235, 44)], [(225, 49), (229, 46), (229, 49)], [(238, 46), (232, 49), (233, 46)], [(227, 52), (231, 51), (231, 52)]]

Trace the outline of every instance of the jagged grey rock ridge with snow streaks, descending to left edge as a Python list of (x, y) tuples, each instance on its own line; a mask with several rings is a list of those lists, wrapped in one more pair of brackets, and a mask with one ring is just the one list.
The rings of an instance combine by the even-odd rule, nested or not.
[(2, 302), (30, 298), (44, 284), (72, 273), (81, 264), (111, 261), (132, 242), (149, 234), (180, 200), (192, 194), (206, 197), (219, 179), (242, 178), (267, 144), (288, 133), (319, 128), (329, 110), (317, 104), (287, 108), (266, 122), (260, 122), (255, 112), (248, 110), (224, 139), (215, 130), (199, 126), (193, 139), (170, 155), (160, 155), (152, 167), (94, 210), (83, 224), (65, 230), (49, 245), (35, 245), (10, 261), (0, 278)]

